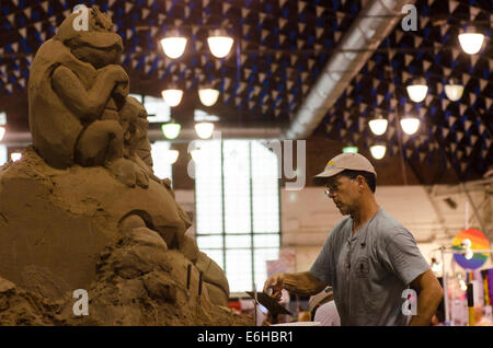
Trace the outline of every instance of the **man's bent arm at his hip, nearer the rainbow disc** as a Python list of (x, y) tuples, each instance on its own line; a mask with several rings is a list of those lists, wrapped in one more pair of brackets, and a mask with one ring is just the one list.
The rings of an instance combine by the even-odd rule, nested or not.
[(411, 287), (420, 292), (417, 297), (417, 315), (411, 320), (411, 326), (427, 326), (444, 297), (438, 279), (431, 269), (416, 277)]

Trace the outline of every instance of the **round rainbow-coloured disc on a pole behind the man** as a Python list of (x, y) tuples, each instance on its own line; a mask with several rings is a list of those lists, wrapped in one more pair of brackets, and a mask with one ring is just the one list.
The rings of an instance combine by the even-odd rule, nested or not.
[[(467, 229), (460, 231), (452, 241), (452, 250), (455, 251), (463, 251), (462, 243), (469, 240), (471, 241), (471, 251), (485, 251), (490, 250), (490, 241), (486, 236), (475, 229)], [(489, 254), (474, 253), (472, 258), (466, 258), (463, 254), (454, 254), (454, 259), (460, 267), (465, 269), (478, 269), (484, 265), (489, 257)]]

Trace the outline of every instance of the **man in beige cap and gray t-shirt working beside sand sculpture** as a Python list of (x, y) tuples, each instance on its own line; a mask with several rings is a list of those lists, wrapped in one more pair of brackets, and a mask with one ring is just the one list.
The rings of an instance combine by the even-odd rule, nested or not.
[[(325, 182), (325, 194), (349, 217), (332, 229), (309, 271), (274, 275), (264, 291), (272, 288), (278, 299), (283, 288), (311, 295), (331, 286), (342, 325), (429, 324), (443, 289), (412, 234), (376, 202), (376, 177), (362, 154), (329, 161), (316, 178)], [(409, 286), (419, 293), (412, 316), (404, 305)]]

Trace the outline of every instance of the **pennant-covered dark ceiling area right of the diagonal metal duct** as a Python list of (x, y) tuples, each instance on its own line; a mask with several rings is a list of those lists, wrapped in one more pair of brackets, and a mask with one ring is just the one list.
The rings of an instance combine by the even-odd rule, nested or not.
[[(493, 9), (474, 8), (468, 1), (419, 0), (415, 5), (426, 13), (420, 16), (419, 31), (397, 27), (329, 111), (321, 127), (328, 137), (346, 143), (363, 139), (369, 148), (385, 142), (393, 155), (400, 148), (395, 113), (400, 118), (415, 116), (421, 120), (417, 134), (401, 132), (406, 159), (431, 163), (434, 154), (444, 150), (448, 160), (443, 158), (443, 164), (450, 167), (451, 163), (462, 179), (473, 173), (482, 174), (493, 163), (492, 48), (469, 56), (457, 43), (457, 27), (433, 25), (429, 19), (448, 12), (461, 19), (466, 14), (471, 20), (493, 21)], [(485, 34), (491, 36), (491, 28)], [(405, 49), (410, 47), (434, 49), (409, 53)], [(425, 77), (428, 85), (426, 98), (419, 104), (409, 98), (405, 90), (416, 77)], [(445, 94), (449, 78), (465, 85), (458, 102), (449, 101)], [(374, 136), (368, 126), (368, 120), (378, 114), (389, 119), (389, 129), (381, 137)]]

